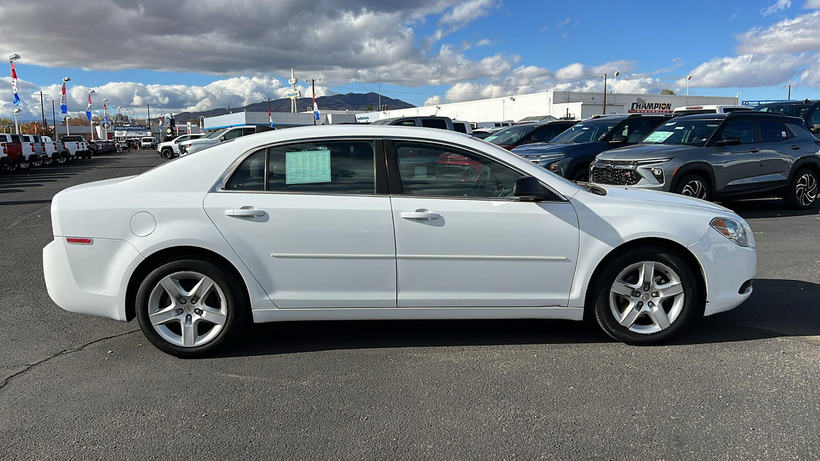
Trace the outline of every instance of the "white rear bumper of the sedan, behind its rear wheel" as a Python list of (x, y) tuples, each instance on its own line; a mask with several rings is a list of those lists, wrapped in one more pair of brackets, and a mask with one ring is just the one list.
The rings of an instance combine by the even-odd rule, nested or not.
[(43, 248), (48, 295), (66, 311), (124, 321), (128, 278), (143, 260), (125, 240), (69, 244), (57, 236)]

